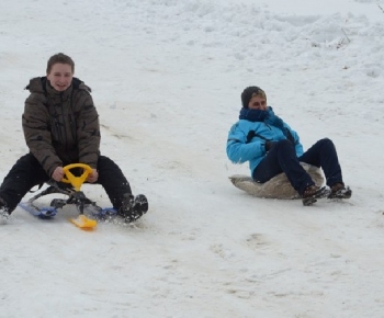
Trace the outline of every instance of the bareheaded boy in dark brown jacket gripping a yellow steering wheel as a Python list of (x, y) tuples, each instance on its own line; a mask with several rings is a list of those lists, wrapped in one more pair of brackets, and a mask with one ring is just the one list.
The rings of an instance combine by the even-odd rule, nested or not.
[(31, 94), (22, 123), (30, 152), (16, 161), (0, 186), (3, 219), (33, 186), (50, 178), (61, 181), (63, 167), (77, 162), (92, 168), (87, 181), (101, 184), (113, 207), (127, 222), (148, 211), (146, 197), (135, 198), (117, 164), (100, 155), (99, 115), (91, 90), (74, 72), (74, 60), (59, 53), (48, 59), (46, 76), (32, 79), (26, 87)]

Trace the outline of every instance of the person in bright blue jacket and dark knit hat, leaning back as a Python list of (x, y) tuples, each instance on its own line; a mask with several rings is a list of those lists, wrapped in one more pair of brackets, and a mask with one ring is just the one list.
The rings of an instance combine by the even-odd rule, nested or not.
[[(284, 172), (292, 186), (302, 195), (304, 205), (316, 198), (349, 198), (352, 191), (342, 181), (341, 168), (334, 143), (324, 138), (304, 152), (296, 132), (267, 106), (266, 92), (248, 87), (241, 93), (239, 121), (231, 126), (227, 156), (234, 163), (249, 161), (256, 182), (264, 183)], [(317, 186), (300, 162), (321, 168), (326, 186)]]

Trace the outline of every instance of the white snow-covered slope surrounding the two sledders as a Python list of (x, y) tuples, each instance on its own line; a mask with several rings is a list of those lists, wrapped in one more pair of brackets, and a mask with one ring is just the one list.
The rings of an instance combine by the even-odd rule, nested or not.
[[(92, 88), (102, 154), (149, 212), (89, 232), (76, 209), (16, 208), (0, 226), (0, 317), (384, 317), (383, 8), (1, 0), (0, 179), (27, 151), (23, 88), (63, 52)], [(335, 141), (351, 200), (304, 207), (231, 185), (249, 174), (225, 152), (247, 86), (305, 148)]]

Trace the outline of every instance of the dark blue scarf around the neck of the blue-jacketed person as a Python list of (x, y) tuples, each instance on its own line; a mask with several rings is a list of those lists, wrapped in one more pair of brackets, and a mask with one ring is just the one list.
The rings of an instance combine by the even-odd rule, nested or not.
[(239, 120), (246, 120), (252, 123), (261, 122), (266, 123), (267, 125), (278, 127), (283, 132), (285, 137), (294, 144), (291, 132), (284, 126), (283, 120), (274, 114), (271, 106), (269, 106), (267, 111), (249, 110), (242, 107), (240, 110)]

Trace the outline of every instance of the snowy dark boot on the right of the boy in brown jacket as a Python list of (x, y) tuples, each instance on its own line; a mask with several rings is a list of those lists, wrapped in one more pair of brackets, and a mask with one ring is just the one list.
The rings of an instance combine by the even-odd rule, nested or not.
[(120, 209), (120, 215), (127, 223), (133, 223), (139, 219), (143, 214), (148, 211), (148, 200), (144, 194), (138, 194), (136, 197), (132, 194), (125, 194), (123, 205)]

